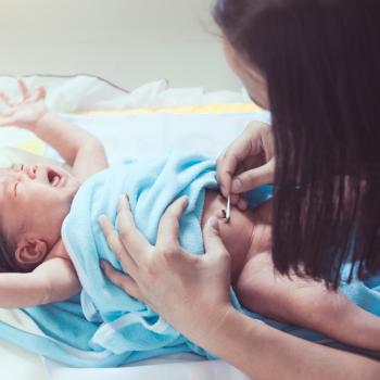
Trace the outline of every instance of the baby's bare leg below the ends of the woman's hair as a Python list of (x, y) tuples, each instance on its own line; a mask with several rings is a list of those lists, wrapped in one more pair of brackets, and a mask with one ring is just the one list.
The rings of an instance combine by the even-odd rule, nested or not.
[(270, 318), (319, 331), (349, 345), (380, 350), (380, 318), (322, 282), (275, 275), (268, 253), (244, 266), (236, 291), (244, 307)]

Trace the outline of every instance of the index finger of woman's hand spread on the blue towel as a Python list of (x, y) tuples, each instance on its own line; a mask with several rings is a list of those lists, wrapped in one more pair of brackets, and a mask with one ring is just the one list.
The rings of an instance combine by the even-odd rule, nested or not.
[(188, 198), (181, 197), (172, 203), (162, 216), (159, 225), (156, 245), (161, 249), (178, 246), (179, 220), (188, 206)]

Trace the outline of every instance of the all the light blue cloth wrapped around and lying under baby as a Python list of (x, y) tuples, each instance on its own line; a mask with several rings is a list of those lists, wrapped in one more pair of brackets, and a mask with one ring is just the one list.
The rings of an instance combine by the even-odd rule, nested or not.
[[(113, 367), (177, 352), (212, 357), (147, 305), (104, 278), (100, 259), (107, 259), (119, 269), (121, 266), (101, 233), (98, 217), (106, 214), (116, 224), (117, 202), (121, 193), (125, 193), (138, 228), (154, 243), (164, 210), (187, 194), (190, 202), (180, 221), (180, 244), (193, 254), (201, 254), (200, 220), (205, 188), (215, 187), (215, 163), (199, 155), (173, 154), (156, 162), (128, 161), (90, 178), (76, 194), (62, 228), (64, 243), (83, 284), (81, 293), (66, 302), (24, 309), (35, 329), (25, 331), (0, 322), (0, 337), (75, 367)], [(249, 193), (251, 207), (270, 198), (270, 187)], [(380, 315), (379, 278), (343, 283), (342, 290), (355, 303)], [(230, 295), (233, 305), (252, 318), (297, 337), (343, 347), (314, 331), (250, 313), (240, 306), (232, 290)]]

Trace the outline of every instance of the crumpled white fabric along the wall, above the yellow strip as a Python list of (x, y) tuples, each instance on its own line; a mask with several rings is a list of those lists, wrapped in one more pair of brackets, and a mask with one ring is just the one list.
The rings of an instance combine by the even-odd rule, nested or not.
[[(46, 87), (47, 104), (53, 112), (251, 103), (244, 89), (207, 92), (202, 87), (172, 88), (166, 80), (144, 84), (132, 91), (86, 75), (69, 78), (36, 75), (26, 77), (25, 83), (31, 90), (38, 86)], [(0, 90), (12, 99), (20, 98), (14, 77), (0, 76)]]

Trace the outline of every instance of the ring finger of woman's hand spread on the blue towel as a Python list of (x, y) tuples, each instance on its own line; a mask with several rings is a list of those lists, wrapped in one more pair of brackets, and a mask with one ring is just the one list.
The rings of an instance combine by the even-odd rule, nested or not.
[(124, 271), (130, 274), (131, 276), (136, 276), (138, 266), (129, 255), (129, 252), (123, 245), (121, 238), (112, 223), (105, 215), (101, 215), (99, 217), (99, 224), (103, 230), (104, 237), (111, 251), (115, 254), (118, 262), (122, 264)]

